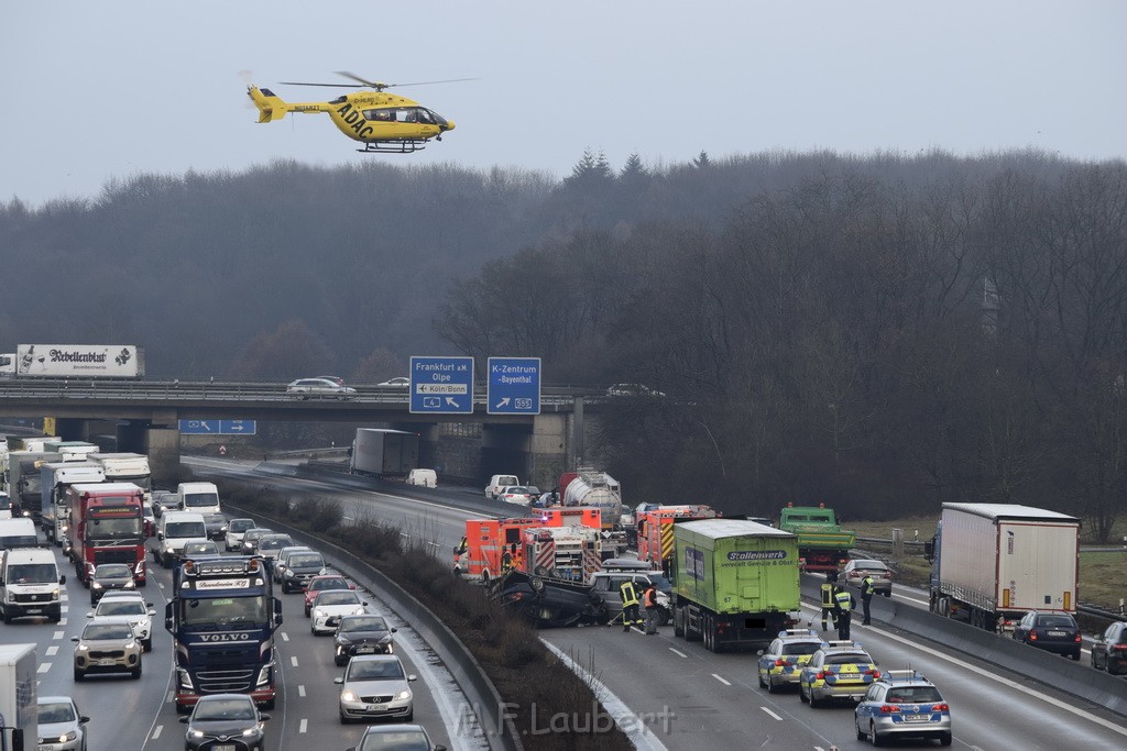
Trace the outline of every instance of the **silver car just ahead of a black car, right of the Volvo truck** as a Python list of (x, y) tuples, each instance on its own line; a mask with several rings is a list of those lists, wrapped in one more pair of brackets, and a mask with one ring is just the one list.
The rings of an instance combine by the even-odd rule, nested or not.
[(348, 661), (343, 678), (335, 678), (340, 687), (340, 722), (400, 717), (410, 722), (415, 717), (415, 701), (410, 683), (415, 676), (403, 671), (403, 663), (393, 654), (362, 654)]

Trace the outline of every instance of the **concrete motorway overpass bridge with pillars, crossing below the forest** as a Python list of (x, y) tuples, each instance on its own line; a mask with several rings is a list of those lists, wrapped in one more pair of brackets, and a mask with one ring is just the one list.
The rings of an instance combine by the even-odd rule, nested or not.
[[(574, 466), (583, 456), (585, 405), (596, 406), (597, 392), (545, 387), (538, 415), (487, 414), (486, 395), (474, 395), (472, 414), (411, 414), (406, 388), (355, 386), (346, 400), (334, 395), (302, 399), (277, 383), (216, 381), (116, 381), (16, 378), (0, 382), (0, 417), (55, 419), (55, 432), (68, 440), (89, 440), (96, 421), (117, 422), (118, 450), (148, 454), (160, 481), (180, 461), (180, 420), (339, 421), (380, 423), (418, 432), (424, 458), (434, 459), (442, 426), (480, 423), (481, 452), (523, 457), (536, 477), (545, 467)], [(433, 464), (428, 462), (427, 464)], [(474, 474), (487, 472), (486, 468)]]

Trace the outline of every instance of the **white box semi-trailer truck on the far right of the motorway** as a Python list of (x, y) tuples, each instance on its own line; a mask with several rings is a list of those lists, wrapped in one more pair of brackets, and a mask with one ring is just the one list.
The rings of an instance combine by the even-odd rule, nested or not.
[(1080, 520), (1008, 503), (943, 503), (931, 611), (1003, 632), (1030, 610), (1076, 614)]

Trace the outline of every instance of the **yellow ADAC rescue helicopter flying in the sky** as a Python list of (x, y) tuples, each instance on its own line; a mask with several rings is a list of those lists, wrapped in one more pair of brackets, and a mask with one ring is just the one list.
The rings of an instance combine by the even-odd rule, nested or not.
[[(254, 84), (247, 87), (247, 95), (258, 108), (259, 123), (279, 120), (285, 117), (286, 113), (328, 113), (341, 133), (353, 141), (360, 141), (364, 144), (363, 149), (356, 151), (409, 154), (425, 149), (426, 142), (431, 138), (442, 141), (442, 134), (446, 131), (453, 131), (454, 123), (438, 113), (420, 106), (417, 101), (394, 93), (384, 93), (384, 90), (392, 87), (474, 80), (451, 79), (418, 83), (381, 83), (367, 81), (347, 71), (337, 71), (337, 74), (350, 78), (357, 83), (375, 89), (375, 91), (354, 91), (337, 97), (332, 101), (301, 104), (282, 101), (269, 89), (259, 89)], [(354, 88), (350, 83), (302, 83), (299, 81), (281, 81), (281, 83), (285, 86)]]

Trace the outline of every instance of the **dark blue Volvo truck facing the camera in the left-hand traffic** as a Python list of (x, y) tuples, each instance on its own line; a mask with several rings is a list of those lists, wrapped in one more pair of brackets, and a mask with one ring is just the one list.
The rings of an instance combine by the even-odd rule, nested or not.
[(165, 628), (176, 654), (176, 710), (208, 694), (249, 694), (272, 708), (282, 601), (261, 558), (188, 558), (175, 573)]

